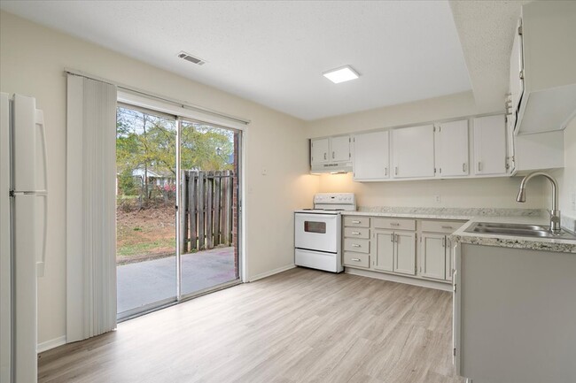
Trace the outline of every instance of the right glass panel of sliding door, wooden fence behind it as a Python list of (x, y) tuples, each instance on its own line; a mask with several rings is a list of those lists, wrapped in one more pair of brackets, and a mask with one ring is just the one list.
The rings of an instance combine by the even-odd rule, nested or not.
[(239, 142), (240, 132), (182, 121), (182, 295), (195, 295), (239, 278)]

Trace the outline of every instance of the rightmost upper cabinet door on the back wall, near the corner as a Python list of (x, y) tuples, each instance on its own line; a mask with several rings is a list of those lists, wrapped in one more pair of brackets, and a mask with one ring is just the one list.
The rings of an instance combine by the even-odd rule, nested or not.
[(474, 119), (474, 173), (506, 173), (506, 122), (503, 115)]

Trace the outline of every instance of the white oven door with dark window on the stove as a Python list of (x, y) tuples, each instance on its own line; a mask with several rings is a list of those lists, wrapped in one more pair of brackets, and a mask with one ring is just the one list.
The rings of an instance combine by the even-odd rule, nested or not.
[(339, 252), (339, 214), (294, 214), (294, 246), (298, 249)]

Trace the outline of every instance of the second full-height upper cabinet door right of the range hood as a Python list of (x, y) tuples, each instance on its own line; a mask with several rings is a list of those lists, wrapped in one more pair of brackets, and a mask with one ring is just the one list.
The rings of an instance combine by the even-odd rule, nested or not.
[(434, 126), (392, 131), (393, 178), (434, 176)]

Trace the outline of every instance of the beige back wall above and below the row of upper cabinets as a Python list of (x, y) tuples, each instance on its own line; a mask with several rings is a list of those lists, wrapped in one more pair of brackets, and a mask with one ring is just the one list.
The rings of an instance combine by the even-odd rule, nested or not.
[[(404, 103), (371, 111), (307, 122), (308, 137), (417, 124), (476, 114), (471, 92)], [(517, 203), (518, 177), (470, 180), (354, 182), (352, 174), (317, 176), (321, 192), (353, 192), (362, 206), (537, 208), (543, 203), (542, 180), (530, 185), (526, 203)], [(440, 203), (435, 202), (440, 195)]]

